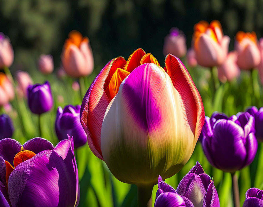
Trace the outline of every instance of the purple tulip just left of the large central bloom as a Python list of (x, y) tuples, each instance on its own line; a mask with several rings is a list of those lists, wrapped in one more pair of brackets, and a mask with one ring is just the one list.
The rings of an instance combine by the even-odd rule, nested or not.
[(59, 140), (67, 138), (67, 134), (73, 136), (75, 148), (87, 142), (87, 135), (80, 123), (80, 105), (68, 105), (57, 111), (55, 129)]

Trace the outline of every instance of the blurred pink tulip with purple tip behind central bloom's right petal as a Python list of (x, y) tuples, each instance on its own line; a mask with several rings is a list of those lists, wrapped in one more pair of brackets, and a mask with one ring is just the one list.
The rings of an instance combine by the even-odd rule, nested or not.
[(164, 39), (163, 54), (172, 54), (176, 57), (183, 57), (186, 55), (186, 37), (182, 31), (173, 27)]

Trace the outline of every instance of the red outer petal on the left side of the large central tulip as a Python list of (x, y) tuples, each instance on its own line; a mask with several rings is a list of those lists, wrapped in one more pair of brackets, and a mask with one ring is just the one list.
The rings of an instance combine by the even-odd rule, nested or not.
[[(106, 79), (110, 71), (115, 72), (117, 68), (122, 67), (124, 62), (126, 63), (122, 57), (111, 60), (92, 82), (81, 105), (80, 122), (87, 133), (89, 147), (102, 160), (100, 132), (103, 117), (109, 105), (109, 99), (104, 91), (104, 84), (107, 84)], [(114, 72), (112, 72), (112, 75)]]

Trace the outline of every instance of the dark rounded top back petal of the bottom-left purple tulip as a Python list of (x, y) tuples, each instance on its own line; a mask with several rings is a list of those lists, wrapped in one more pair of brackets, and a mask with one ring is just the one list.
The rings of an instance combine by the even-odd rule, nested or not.
[(26, 141), (23, 144), (23, 148), (24, 150), (30, 150), (37, 154), (47, 149), (53, 150), (54, 146), (50, 141), (41, 137), (36, 137)]

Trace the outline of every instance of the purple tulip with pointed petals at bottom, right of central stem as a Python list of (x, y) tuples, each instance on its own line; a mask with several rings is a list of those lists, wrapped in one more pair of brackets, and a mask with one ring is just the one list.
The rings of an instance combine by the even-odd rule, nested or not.
[(158, 179), (154, 207), (219, 207), (219, 198), (214, 181), (205, 173), (199, 162), (183, 177), (175, 190)]

